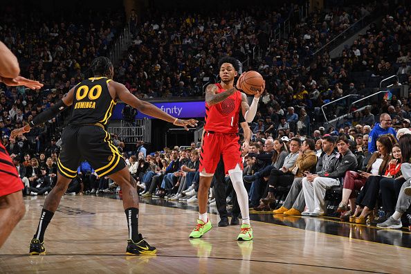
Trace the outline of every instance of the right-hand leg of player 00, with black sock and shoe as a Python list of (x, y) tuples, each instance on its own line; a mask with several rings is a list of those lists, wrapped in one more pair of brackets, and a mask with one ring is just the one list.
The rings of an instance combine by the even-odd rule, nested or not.
[(157, 250), (149, 246), (143, 236), (138, 233), (138, 192), (137, 181), (131, 176), (129, 169), (123, 167), (116, 173), (109, 175), (122, 190), (122, 206), (127, 217), (129, 240), (127, 244), (128, 255), (154, 255)]

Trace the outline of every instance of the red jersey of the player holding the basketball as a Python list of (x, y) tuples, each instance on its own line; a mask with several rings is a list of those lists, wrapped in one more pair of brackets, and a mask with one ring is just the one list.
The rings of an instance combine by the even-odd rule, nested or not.
[[(221, 84), (215, 84), (218, 88), (217, 93), (226, 92)], [(241, 109), (241, 92), (235, 91), (230, 97), (209, 106), (206, 102), (206, 131), (214, 131), (223, 134), (238, 133), (239, 111)]]

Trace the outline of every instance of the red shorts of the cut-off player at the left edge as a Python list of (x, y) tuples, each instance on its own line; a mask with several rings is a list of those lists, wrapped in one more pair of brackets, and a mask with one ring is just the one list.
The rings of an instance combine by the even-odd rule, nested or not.
[(15, 193), (24, 188), (15, 165), (6, 148), (0, 143), (0, 197)]

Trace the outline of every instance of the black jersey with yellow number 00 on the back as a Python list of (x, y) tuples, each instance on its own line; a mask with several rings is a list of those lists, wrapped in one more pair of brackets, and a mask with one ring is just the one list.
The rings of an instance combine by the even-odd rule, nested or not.
[(107, 77), (92, 77), (75, 86), (69, 125), (107, 125), (117, 104), (109, 93), (110, 81)]

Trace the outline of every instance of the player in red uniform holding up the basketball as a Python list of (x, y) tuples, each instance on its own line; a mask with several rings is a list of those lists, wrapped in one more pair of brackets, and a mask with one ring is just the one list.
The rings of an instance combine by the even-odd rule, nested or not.
[[(207, 216), (208, 190), (212, 176), (223, 156), (226, 174), (232, 181), (241, 210), (242, 226), (237, 239), (249, 241), (253, 239), (248, 213), (248, 194), (243, 183), (243, 165), (239, 146), (238, 120), (239, 111), (246, 122), (253, 121), (257, 112), (259, 96), (265, 89), (262, 85), (254, 96), (253, 103), (248, 106), (247, 97), (234, 86), (234, 78), (239, 70), (239, 61), (232, 57), (223, 57), (219, 62), (221, 82), (210, 84), (206, 88), (206, 125), (203, 131), (203, 145), (200, 154), (199, 220), (190, 233), (190, 238), (199, 238), (212, 228)], [(249, 140), (244, 140), (248, 147)]]

